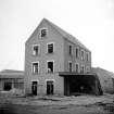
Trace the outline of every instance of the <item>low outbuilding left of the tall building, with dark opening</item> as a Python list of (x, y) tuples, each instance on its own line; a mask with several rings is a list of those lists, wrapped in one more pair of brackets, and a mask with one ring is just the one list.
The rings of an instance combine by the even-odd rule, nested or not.
[(11, 89), (24, 90), (24, 72), (14, 69), (3, 69), (0, 72), (0, 91)]

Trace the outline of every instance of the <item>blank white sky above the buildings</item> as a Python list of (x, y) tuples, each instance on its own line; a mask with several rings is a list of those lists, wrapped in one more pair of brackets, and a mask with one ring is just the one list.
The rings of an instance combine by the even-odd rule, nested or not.
[(48, 18), (92, 52), (92, 66), (114, 72), (114, 0), (0, 0), (0, 69), (24, 69), (25, 41)]

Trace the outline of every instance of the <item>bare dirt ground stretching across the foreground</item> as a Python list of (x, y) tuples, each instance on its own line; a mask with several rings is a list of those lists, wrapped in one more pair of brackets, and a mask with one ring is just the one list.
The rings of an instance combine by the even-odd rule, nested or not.
[(0, 114), (114, 114), (114, 94), (101, 97), (0, 96)]

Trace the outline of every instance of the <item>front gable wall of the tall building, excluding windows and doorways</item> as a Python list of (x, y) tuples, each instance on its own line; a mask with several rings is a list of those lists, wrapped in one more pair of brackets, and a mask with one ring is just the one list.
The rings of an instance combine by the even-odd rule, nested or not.
[[(40, 28), (48, 28), (48, 36), (40, 38)], [(54, 43), (54, 52), (52, 54), (47, 53), (47, 43)], [(33, 55), (33, 45), (40, 46), (40, 53), (38, 56)], [(54, 80), (54, 93), (64, 92), (63, 78), (59, 76), (59, 72), (64, 71), (64, 54), (63, 54), (63, 38), (52, 28), (48, 23), (41, 23), (30, 39), (26, 42), (25, 47), (25, 89), (26, 92), (31, 92), (31, 81), (38, 80), (38, 94), (46, 94), (46, 81), (48, 79)], [(47, 73), (47, 61), (54, 61), (54, 73)], [(31, 62), (39, 62), (39, 74), (33, 75)]]

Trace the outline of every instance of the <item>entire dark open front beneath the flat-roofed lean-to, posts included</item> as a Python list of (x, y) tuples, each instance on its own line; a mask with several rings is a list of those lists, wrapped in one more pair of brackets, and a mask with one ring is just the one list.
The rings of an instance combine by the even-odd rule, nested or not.
[(76, 75), (64, 77), (64, 88), (66, 96), (102, 94), (96, 76)]

